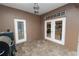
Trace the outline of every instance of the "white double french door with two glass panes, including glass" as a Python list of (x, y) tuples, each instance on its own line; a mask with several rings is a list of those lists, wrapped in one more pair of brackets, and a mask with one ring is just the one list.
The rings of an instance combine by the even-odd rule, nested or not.
[(66, 18), (45, 21), (45, 39), (64, 45)]

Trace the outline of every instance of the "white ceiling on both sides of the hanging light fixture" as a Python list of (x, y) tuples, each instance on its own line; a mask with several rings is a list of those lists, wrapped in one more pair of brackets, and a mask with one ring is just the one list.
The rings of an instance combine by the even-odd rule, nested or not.
[[(38, 4), (40, 7), (38, 15), (42, 15), (58, 7), (64, 6), (67, 3), (38, 3)], [(3, 3), (2, 5), (34, 13), (33, 9), (34, 3)]]

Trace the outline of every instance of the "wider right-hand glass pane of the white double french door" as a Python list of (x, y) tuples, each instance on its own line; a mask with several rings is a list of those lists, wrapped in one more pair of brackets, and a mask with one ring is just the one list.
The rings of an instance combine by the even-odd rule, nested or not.
[(61, 40), (62, 38), (62, 21), (55, 22), (55, 39)]

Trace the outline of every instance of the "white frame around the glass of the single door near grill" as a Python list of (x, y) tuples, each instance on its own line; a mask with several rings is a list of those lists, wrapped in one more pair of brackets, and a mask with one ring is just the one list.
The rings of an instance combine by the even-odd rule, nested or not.
[[(24, 39), (20, 39), (20, 40), (18, 38), (18, 29), (17, 29), (17, 23), (18, 22), (24, 23)], [(15, 28), (15, 43), (19, 44), (19, 43), (23, 43), (23, 42), (27, 41), (26, 40), (26, 38), (27, 38), (27, 35), (26, 35), (27, 34), (27, 32), (26, 32), (26, 20), (24, 20), (24, 19), (14, 19), (14, 28)]]

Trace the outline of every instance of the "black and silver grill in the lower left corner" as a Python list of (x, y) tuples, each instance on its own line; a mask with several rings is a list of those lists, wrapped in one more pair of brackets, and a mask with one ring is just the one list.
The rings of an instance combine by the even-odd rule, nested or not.
[(16, 52), (13, 32), (0, 33), (0, 56), (14, 56)]

